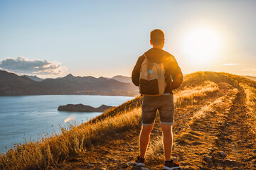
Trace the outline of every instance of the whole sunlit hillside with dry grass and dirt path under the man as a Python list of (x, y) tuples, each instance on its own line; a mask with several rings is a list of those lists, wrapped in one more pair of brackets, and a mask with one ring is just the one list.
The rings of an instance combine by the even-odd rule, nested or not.
[[(233, 74), (196, 72), (174, 91), (172, 156), (182, 169), (256, 169), (256, 82)], [(16, 145), (0, 157), (0, 169), (141, 169), (142, 97), (61, 135)], [(164, 163), (156, 118), (146, 154), (147, 169)]]

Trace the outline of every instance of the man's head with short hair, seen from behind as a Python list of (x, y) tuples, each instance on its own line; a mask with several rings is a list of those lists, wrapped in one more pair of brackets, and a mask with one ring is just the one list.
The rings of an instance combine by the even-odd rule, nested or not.
[(150, 44), (153, 47), (164, 47), (164, 30), (155, 29), (150, 33)]

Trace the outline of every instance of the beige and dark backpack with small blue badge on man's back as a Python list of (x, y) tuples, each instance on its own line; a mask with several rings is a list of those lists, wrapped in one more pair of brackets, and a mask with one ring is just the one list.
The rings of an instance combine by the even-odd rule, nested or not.
[(164, 63), (151, 62), (146, 58), (139, 74), (139, 93), (145, 96), (161, 96), (166, 88)]

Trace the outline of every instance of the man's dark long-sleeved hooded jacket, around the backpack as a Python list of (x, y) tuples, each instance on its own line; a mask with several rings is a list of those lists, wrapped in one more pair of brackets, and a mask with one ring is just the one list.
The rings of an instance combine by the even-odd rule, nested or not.
[[(178, 63), (176, 62), (176, 59), (173, 55), (155, 47), (145, 52), (144, 55), (146, 55), (146, 58), (151, 62), (164, 63), (167, 83), (164, 94), (172, 94), (172, 90), (181, 86), (183, 81), (183, 74), (181, 72), (181, 68), (178, 67)], [(134, 66), (134, 69), (132, 70), (132, 82), (135, 84), (135, 86), (139, 86), (139, 73), (142, 62), (145, 59), (144, 55), (139, 57), (137, 63)]]

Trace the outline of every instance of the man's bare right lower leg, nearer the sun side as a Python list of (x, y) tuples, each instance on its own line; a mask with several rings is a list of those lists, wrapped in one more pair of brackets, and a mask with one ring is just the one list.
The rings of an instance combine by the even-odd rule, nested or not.
[(171, 149), (173, 145), (173, 132), (172, 132), (172, 125), (165, 125), (161, 124), (161, 128), (163, 130), (164, 134), (164, 154), (165, 154), (165, 160), (170, 161), (171, 160)]

